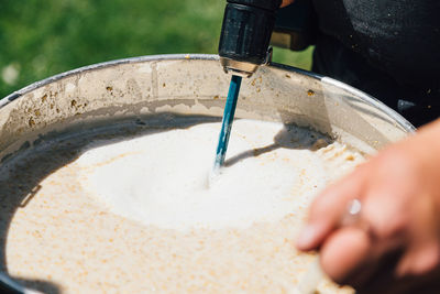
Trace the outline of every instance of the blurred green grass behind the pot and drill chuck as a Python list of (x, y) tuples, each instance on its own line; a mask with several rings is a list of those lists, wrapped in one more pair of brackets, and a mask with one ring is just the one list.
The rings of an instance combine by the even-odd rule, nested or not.
[[(168, 53), (217, 54), (226, 1), (1, 0), (0, 98), (95, 63)], [(274, 62), (310, 68), (310, 50)]]

